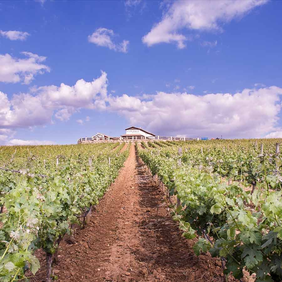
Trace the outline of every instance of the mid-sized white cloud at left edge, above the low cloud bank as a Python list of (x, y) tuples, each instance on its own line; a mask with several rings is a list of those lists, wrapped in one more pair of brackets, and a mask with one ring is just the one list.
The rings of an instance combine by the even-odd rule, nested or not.
[(14, 58), (9, 54), (0, 55), (0, 81), (16, 83), (22, 81), (29, 84), (34, 76), (50, 71), (47, 65), (40, 64), (46, 57), (30, 52), (22, 52), (27, 59)]

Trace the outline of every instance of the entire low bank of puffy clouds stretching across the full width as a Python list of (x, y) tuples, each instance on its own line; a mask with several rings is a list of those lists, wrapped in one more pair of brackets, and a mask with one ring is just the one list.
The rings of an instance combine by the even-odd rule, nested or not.
[[(279, 132), (280, 97), (277, 86), (244, 89), (242, 92), (194, 95), (186, 92), (157, 92), (141, 96), (113, 96), (107, 92), (107, 74), (91, 82), (78, 80), (74, 86), (33, 88), (32, 95), (20, 93), (11, 99), (0, 92), (1, 138), (4, 130), (68, 120), (82, 108), (114, 112), (156, 134), (224, 138), (274, 137)], [(251, 109), (251, 110), (250, 110)], [(85, 120), (81, 119), (84, 123)], [(77, 122), (81, 123), (77, 120)], [(276, 136), (276, 135), (275, 135)]]

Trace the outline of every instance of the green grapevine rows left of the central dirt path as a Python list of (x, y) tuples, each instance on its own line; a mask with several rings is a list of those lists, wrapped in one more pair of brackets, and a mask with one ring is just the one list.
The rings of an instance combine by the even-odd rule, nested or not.
[[(124, 144), (21, 146), (1, 149), (1, 281), (35, 274), (42, 248), (51, 281), (52, 257), (72, 226), (85, 224), (128, 157)], [(4, 211), (3, 211), (4, 210)], [(70, 234), (71, 235), (71, 234)]]

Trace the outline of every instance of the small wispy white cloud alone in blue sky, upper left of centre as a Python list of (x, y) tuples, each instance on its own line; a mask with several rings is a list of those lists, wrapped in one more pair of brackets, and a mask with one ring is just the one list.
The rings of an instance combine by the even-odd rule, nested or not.
[(91, 35), (88, 36), (88, 41), (98, 46), (107, 47), (111, 50), (127, 53), (129, 41), (123, 40), (123, 42), (115, 44), (112, 38), (115, 36), (111, 29), (98, 28)]

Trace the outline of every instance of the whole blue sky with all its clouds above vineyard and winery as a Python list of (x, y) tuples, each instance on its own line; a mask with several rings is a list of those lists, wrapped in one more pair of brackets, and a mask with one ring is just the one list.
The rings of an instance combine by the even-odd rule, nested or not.
[(0, 145), (282, 138), (282, 1), (1, 1)]

